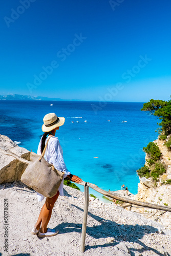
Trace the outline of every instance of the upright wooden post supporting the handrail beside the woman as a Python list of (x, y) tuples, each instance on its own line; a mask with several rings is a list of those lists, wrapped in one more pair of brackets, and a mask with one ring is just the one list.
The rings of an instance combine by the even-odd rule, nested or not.
[(85, 203), (84, 203), (82, 232), (81, 232), (81, 252), (84, 252), (85, 250), (87, 217), (88, 217), (88, 208), (89, 208), (89, 186), (87, 186), (87, 182), (84, 186), (84, 197), (85, 197)]

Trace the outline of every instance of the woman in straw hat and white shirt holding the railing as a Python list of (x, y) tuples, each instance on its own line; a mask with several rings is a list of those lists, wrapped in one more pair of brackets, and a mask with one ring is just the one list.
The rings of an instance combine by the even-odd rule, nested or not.
[[(47, 143), (48, 136), (51, 136), (48, 141), (48, 146), (45, 152), (45, 159), (50, 164), (53, 164), (56, 169), (60, 170), (61, 172), (64, 172), (64, 178), (69, 177), (71, 181), (79, 183), (82, 180), (79, 177), (72, 175), (68, 171), (66, 164), (63, 161), (63, 152), (59, 140), (58, 138), (55, 137), (56, 130), (59, 130), (59, 126), (63, 125), (64, 122), (65, 118), (57, 117), (55, 113), (47, 114), (44, 117), (44, 124), (41, 128), (44, 132), (44, 135), (40, 139), (37, 154), (41, 155)], [(38, 220), (31, 231), (32, 234), (38, 234), (39, 237), (51, 237), (55, 236), (59, 232), (58, 230), (47, 228), (47, 225), (52, 215), (53, 206), (56, 200), (58, 199), (59, 195), (63, 196), (63, 180), (59, 186), (56, 195), (53, 196), (52, 198), (46, 198), (46, 202), (42, 206)], [(37, 199), (40, 202), (44, 199), (44, 196), (37, 193)]]

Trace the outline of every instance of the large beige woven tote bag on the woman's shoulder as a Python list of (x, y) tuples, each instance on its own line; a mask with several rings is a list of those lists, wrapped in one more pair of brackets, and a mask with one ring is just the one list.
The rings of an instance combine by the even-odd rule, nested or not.
[[(48, 141), (50, 137), (52, 136), (49, 136)], [(53, 165), (45, 160), (44, 155), (48, 141), (41, 156), (31, 152), (30, 163), (25, 169), (21, 181), (41, 195), (53, 197), (57, 193), (64, 172), (56, 170)]]

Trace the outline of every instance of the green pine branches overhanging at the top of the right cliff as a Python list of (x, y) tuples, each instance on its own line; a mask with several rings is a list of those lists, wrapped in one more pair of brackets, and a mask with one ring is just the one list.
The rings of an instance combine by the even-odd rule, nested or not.
[(171, 133), (171, 100), (154, 100), (151, 99), (143, 104), (142, 111), (149, 111), (154, 116), (158, 116), (161, 128), (159, 133), (161, 136), (169, 135)]

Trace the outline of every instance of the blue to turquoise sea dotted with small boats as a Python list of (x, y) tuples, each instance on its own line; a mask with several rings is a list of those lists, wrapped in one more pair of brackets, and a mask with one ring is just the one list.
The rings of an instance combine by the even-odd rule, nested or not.
[[(70, 172), (105, 190), (121, 189), (124, 183), (136, 194), (136, 170), (145, 163), (142, 148), (157, 139), (157, 118), (140, 111), (143, 103), (108, 102), (95, 113), (97, 105), (85, 101), (0, 100), (0, 134), (37, 152), (42, 119), (55, 112), (66, 118), (56, 137)], [(127, 122), (121, 123), (123, 120)]]

